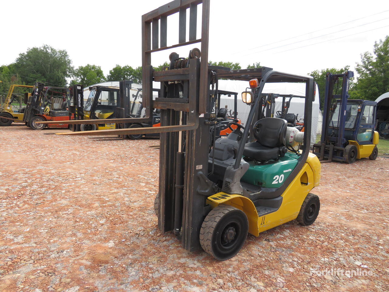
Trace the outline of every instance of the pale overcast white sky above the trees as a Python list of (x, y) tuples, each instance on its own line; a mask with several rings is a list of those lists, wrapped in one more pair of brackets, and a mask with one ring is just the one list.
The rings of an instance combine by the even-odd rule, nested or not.
[[(99, 65), (105, 75), (116, 64), (137, 67), (141, 16), (167, 2), (2, 1), (0, 65), (48, 44), (67, 50), (75, 67)], [(345, 65), (353, 70), (361, 53), (389, 35), (389, 1), (210, 2), (209, 60), (239, 62), (242, 68), (261, 62), (296, 74)], [(174, 21), (168, 19), (168, 28)], [(153, 65), (168, 55), (155, 54)]]

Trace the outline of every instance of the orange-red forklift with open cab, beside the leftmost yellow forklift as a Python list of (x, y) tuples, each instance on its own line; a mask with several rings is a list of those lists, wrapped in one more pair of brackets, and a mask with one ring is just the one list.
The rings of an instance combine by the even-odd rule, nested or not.
[(33, 130), (42, 130), (43, 121), (54, 121), (47, 125), (49, 128), (67, 128), (63, 121), (70, 119), (68, 106), (70, 104), (70, 90), (66, 87), (45, 86), (37, 82), (32, 95), (25, 98), (26, 109), (23, 122)]

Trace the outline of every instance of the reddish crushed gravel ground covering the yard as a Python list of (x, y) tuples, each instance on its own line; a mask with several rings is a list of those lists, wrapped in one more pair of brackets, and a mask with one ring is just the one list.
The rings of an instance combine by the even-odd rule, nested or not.
[(157, 229), (158, 139), (49, 132), (0, 128), (0, 291), (389, 291), (385, 158), (323, 164), (313, 225), (218, 262)]

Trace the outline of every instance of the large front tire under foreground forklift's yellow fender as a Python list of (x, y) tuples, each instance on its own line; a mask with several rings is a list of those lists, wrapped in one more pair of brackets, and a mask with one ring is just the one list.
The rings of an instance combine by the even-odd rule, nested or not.
[(205, 217), (200, 229), (200, 244), (217, 260), (228, 260), (242, 248), (249, 232), (246, 214), (221, 204)]

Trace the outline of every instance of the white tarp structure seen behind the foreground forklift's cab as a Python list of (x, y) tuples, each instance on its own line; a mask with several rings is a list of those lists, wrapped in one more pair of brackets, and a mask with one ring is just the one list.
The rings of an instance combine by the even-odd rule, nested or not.
[[(233, 91), (238, 93), (237, 112), (238, 118), (245, 124), (247, 117), (249, 116), (250, 106), (245, 104), (240, 98), (242, 91), (245, 91), (249, 87), (247, 81), (235, 81), (235, 80), (219, 80), (219, 90)], [(263, 93), (278, 93), (282, 95), (300, 95), (305, 96), (305, 83), (266, 83), (263, 88)], [(289, 100), (288, 98), (286, 101)], [(298, 114), (298, 120), (304, 121), (304, 103), (305, 99), (294, 97), (291, 100), (288, 113)], [(311, 144), (315, 142), (317, 131), (321, 131), (321, 123), (319, 123), (319, 88), (316, 85), (315, 100), (312, 104), (312, 131), (311, 131)], [(234, 97), (228, 97), (226, 95), (221, 96), (220, 106), (227, 106), (228, 109), (234, 109)], [(278, 97), (275, 100), (274, 113), (282, 110), (282, 97)]]

